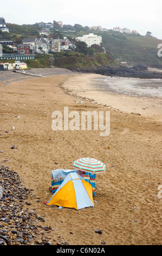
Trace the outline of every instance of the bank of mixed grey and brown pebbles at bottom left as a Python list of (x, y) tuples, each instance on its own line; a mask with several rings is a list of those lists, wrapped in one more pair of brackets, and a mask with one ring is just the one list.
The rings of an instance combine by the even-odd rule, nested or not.
[[(3, 187), (3, 197), (0, 206), (0, 234), (7, 237), (10, 245), (51, 245), (47, 231), (51, 227), (43, 227), (38, 223), (36, 209), (28, 212), (23, 210), (31, 190), (22, 186), (22, 180), (9, 167), (0, 166), (0, 184)], [(43, 218), (41, 220), (44, 220)], [(44, 236), (46, 234), (46, 236)], [(0, 244), (2, 239), (0, 237)], [(2, 244), (5, 244), (3, 241)]]

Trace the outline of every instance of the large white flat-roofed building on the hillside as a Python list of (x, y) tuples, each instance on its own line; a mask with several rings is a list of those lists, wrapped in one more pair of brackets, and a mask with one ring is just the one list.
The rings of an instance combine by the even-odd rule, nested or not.
[(89, 35), (78, 36), (76, 40), (86, 42), (87, 46), (90, 47), (91, 45), (100, 45), (102, 42), (102, 36), (89, 33)]

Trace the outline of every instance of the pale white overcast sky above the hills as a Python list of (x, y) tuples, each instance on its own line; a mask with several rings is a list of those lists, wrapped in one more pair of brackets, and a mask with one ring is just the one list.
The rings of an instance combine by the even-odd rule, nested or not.
[(126, 27), (141, 35), (150, 31), (162, 39), (161, 0), (0, 0), (0, 4), (0, 16), (18, 25), (61, 20), (72, 26)]

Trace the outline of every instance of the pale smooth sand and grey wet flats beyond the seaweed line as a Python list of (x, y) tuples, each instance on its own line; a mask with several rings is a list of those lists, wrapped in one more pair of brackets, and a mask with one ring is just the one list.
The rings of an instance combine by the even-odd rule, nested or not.
[[(161, 80), (153, 81), (82, 74), (70, 77), (63, 87), (74, 95), (87, 97), (116, 111), (162, 121)], [(151, 83), (156, 85), (151, 87)], [(159, 89), (155, 88), (157, 84)]]

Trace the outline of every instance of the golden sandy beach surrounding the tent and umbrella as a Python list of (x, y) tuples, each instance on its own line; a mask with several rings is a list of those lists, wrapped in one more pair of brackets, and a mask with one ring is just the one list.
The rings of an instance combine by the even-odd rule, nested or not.
[[(30, 198), (29, 210), (36, 209), (55, 229), (50, 233), (53, 245), (58, 240), (69, 245), (161, 245), (160, 97), (98, 90), (96, 76), (58, 70), (44, 78), (1, 81), (0, 162), (20, 174), (40, 198), (38, 203)], [(110, 111), (109, 136), (94, 130), (53, 131), (51, 114), (63, 113), (65, 106), (69, 112)], [(51, 170), (73, 169), (80, 157), (107, 166), (96, 175), (95, 207), (76, 211), (44, 205), (51, 197)]]

